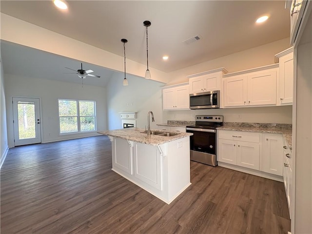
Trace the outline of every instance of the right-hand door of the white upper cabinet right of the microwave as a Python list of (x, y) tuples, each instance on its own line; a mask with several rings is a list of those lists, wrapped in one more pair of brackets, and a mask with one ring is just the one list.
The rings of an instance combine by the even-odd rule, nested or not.
[(276, 104), (276, 71), (248, 75), (248, 105)]

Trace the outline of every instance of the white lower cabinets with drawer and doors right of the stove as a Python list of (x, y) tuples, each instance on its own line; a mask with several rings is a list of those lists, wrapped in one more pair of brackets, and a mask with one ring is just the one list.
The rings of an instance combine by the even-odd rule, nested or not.
[(240, 166), (231, 166), (231, 169), (241, 171), (242, 167), (249, 168), (254, 171), (244, 172), (282, 181), (283, 136), (219, 130), (217, 158), (221, 166)]

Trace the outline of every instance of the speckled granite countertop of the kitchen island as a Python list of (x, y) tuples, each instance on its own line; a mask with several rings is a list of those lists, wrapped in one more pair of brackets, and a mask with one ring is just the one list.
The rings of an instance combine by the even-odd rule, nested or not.
[[(142, 144), (147, 145), (161, 145), (168, 143), (170, 141), (174, 141), (177, 139), (181, 139), (184, 137), (190, 137), (193, 135), (193, 133), (179, 133), (176, 136), (172, 137), (164, 137), (164, 136), (157, 136), (157, 135), (147, 135), (144, 132), (145, 129), (142, 128), (123, 128), (123, 129), (117, 129), (117, 130), (108, 130), (108, 131), (101, 131), (98, 132), (99, 134), (110, 136), (110, 137), (118, 137), (121, 139), (129, 140), (129, 141), (135, 141)], [(167, 131), (160, 131), (160, 130), (151, 130), (151, 131), (158, 131), (166, 133)]]

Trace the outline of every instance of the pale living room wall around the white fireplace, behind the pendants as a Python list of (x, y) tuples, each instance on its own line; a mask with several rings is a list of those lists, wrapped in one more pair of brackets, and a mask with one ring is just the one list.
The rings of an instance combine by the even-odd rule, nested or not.
[[(153, 74), (152, 74), (153, 76)], [(162, 123), (162, 91), (163, 83), (127, 75), (128, 86), (122, 86), (123, 74), (111, 78), (107, 90), (108, 128), (120, 129), (121, 118), (119, 112), (137, 112), (137, 127), (147, 126), (147, 114), (153, 111), (155, 122), (151, 128), (155, 129), (157, 123)]]

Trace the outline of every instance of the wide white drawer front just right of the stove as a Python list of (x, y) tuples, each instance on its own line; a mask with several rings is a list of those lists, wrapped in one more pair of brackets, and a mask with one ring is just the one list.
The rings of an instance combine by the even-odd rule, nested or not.
[(218, 138), (260, 143), (261, 134), (221, 130), (221, 131), (218, 131)]

